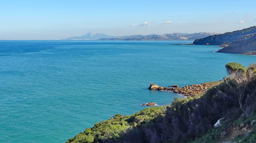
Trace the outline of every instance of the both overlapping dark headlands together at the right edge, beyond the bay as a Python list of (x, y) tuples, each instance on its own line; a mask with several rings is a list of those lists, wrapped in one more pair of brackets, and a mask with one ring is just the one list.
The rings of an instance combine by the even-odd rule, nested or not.
[(256, 55), (256, 26), (197, 39), (196, 45), (221, 45), (218, 52)]

